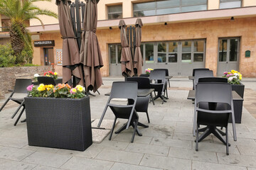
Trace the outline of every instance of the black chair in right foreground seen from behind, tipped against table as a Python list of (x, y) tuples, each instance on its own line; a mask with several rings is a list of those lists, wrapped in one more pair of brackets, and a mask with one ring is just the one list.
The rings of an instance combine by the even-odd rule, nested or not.
[[(233, 113), (232, 89), (228, 83), (199, 83), (196, 86), (194, 131), (196, 127), (196, 151), (198, 142), (213, 133), (226, 145), (228, 151), (228, 118)], [(207, 125), (208, 128), (198, 137), (198, 126)], [(216, 127), (225, 127), (225, 140)], [(233, 127), (234, 130), (234, 127)]]

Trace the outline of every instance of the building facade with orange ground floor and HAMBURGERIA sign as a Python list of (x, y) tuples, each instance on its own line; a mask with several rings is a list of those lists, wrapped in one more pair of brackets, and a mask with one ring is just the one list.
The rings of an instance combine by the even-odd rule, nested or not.
[[(38, 3), (57, 13), (55, 0)], [(207, 67), (214, 74), (236, 69), (256, 77), (256, 1), (254, 0), (100, 0), (97, 38), (104, 67), (102, 76), (120, 76), (119, 20), (134, 26), (142, 18), (144, 69), (167, 68), (186, 77), (193, 68)], [(62, 72), (62, 39), (58, 20), (30, 21), (33, 64), (55, 64)], [(37, 44), (37, 45), (36, 45)], [(39, 45), (38, 45), (39, 44)]]

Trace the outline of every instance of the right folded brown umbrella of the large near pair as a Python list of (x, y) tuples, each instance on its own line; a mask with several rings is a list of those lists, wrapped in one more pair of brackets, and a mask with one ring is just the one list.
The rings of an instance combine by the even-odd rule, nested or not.
[(85, 0), (80, 62), (85, 74), (85, 88), (94, 92), (102, 85), (100, 67), (103, 67), (100, 45), (97, 40), (97, 0)]

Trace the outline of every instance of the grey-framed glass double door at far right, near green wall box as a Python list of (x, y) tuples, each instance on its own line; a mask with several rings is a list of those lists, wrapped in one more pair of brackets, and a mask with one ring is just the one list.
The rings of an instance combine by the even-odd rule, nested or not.
[(220, 38), (218, 42), (218, 76), (239, 69), (239, 38)]

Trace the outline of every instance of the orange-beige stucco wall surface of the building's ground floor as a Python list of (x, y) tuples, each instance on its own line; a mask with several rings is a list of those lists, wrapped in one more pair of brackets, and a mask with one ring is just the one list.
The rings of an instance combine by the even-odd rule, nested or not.
[[(206, 38), (206, 67), (212, 69), (215, 75), (218, 64), (218, 38), (240, 37), (239, 71), (243, 74), (243, 77), (256, 77), (255, 36), (256, 17), (235, 18), (235, 21), (224, 19), (142, 27), (142, 42)], [(55, 49), (62, 47), (60, 37), (59, 33), (41, 35), (41, 40), (55, 40), (54, 56)], [(100, 42), (104, 62), (101, 72), (102, 76), (106, 77), (109, 76), (108, 44), (120, 42), (120, 30), (118, 28), (97, 30), (97, 38)], [(36, 58), (42, 59), (43, 53), (39, 47), (35, 47), (34, 50), (34, 61), (36, 62), (38, 61)], [(251, 57), (245, 58), (246, 50), (251, 51)], [(59, 70), (61, 70), (61, 67)]]

